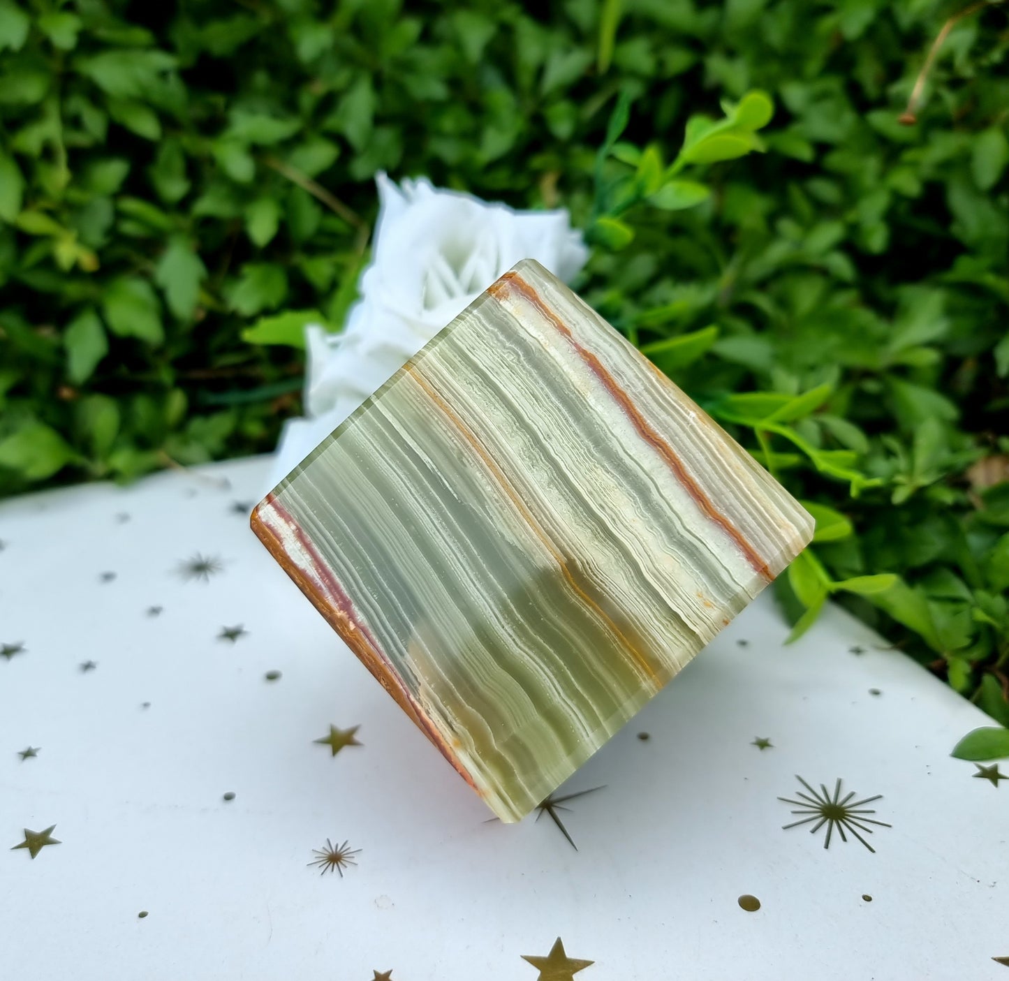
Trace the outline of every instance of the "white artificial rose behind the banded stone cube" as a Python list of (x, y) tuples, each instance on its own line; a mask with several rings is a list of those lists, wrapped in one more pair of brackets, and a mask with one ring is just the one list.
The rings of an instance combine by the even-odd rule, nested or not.
[(516, 211), (426, 178), (398, 187), (379, 174), (376, 184), (378, 221), (360, 299), (341, 333), (306, 331), (308, 418), (286, 425), (274, 483), (520, 259), (570, 281), (588, 258), (565, 209)]

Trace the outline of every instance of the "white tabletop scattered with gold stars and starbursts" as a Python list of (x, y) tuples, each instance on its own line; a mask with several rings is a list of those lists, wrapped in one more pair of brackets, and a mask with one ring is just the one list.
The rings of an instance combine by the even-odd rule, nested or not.
[[(558, 936), (577, 981), (1009, 979), (1009, 785), (948, 756), (985, 717), (864, 627), (783, 648), (750, 608), (561, 791), (605, 785), (562, 814), (575, 852), (487, 823), (274, 565), (232, 511), (267, 466), (0, 504), (4, 981), (537, 981)], [(197, 552), (223, 570), (185, 581)], [(782, 830), (796, 773), (884, 795), (875, 854)], [(327, 838), (361, 849), (342, 879), (307, 866)]]

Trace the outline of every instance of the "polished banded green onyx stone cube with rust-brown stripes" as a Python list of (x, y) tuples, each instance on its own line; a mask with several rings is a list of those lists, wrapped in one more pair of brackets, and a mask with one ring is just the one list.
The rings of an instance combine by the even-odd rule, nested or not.
[(504, 821), (567, 779), (813, 530), (528, 259), (284, 479), (252, 526)]

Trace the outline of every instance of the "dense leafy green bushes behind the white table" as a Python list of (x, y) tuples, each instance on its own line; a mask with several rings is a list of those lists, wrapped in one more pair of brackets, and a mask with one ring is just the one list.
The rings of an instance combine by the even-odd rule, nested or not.
[[(576, 288), (810, 503), (779, 579), (1006, 724), (1009, 33), (920, 0), (0, 0), (0, 494), (270, 448), (371, 180)], [(252, 343), (249, 343), (252, 341)]]

